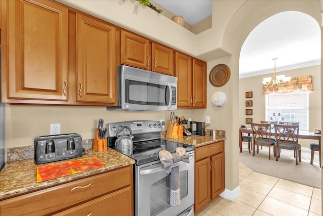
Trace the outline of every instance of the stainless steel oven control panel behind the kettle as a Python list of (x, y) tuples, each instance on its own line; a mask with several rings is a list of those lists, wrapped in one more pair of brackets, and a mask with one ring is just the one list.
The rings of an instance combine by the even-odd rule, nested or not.
[(116, 137), (117, 132), (122, 126), (128, 126), (133, 135), (155, 133), (163, 131), (159, 121), (142, 120), (142, 121), (121, 121), (107, 123), (107, 137)]

